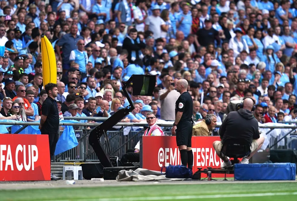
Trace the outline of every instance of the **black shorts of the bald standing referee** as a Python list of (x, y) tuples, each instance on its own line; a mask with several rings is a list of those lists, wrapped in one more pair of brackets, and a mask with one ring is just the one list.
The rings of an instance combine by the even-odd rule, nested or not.
[(193, 124), (191, 121), (179, 122), (176, 126), (176, 145), (192, 147)]

